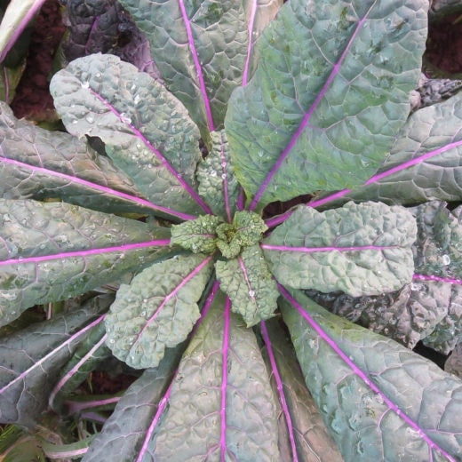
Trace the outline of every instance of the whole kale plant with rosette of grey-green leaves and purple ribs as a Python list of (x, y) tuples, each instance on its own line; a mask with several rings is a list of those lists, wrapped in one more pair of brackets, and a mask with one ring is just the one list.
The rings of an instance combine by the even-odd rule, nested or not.
[[(409, 116), (427, 2), (121, 3), (162, 81), (94, 54), (52, 78), (68, 133), (2, 106), (2, 422), (103, 423), (48, 452), (86, 462), (462, 460), (462, 383), (407, 347), (462, 338), (462, 98)], [(145, 371), (76, 400), (114, 356)]]

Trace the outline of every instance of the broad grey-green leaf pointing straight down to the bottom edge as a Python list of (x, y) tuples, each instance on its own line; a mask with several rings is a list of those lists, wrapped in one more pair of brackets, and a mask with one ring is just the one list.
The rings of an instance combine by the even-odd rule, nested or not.
[(218, 294), (187, 347), (147, 459), (277, 459), (265, 363), (253, 332), (230, 315), (229, 305)]

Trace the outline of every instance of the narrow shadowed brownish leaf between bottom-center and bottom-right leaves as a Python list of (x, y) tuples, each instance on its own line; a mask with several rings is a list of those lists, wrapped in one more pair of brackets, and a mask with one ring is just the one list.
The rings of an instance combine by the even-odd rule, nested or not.
[[(271, 372), (271, 383), (279, 398), (279, 448), (283, 462), (326, 460), (341, 462), (335, 442), (307, 390), (293, 348), (287, 343), (278, 320), (260, 324)], [(283, 447), (286, 447), (283, 450)]]

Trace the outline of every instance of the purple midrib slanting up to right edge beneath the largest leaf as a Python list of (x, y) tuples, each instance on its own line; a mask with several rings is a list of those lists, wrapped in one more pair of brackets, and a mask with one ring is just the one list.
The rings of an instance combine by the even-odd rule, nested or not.
[[(415, 157), (414, 159), (411, 159), (408, 162), (401, 163), (400, 165), (396, 165), (395, 167), (387, 170), (387, 171), (382, 171), (381, 173), (378, 173), (377, 175), (374, 175), (373, 177), (370, 177), (365, 183), (362, 184), (361, 187), (371, 185), (372, 183), (375, 183), (379, 179), (383, 179), (386, 177), (389, 177), (390, 175), (393, 175), (394, 173), (397, 173), (398, 171), (402, 171), (405, 169), (408, 169), (410, 167), (413, 167), (414, 165), (417, 165), (418, 163), (423, 163), (427, 159), (430, 159), (431, 157), (434, 157), (435, 155), (440, 155), (450, 149), (453, 149), (455, 147), (460, 147), (462, 146), (462, 139), (459, 141), (454, 141), (452, 143), (449, 143), (443, 147), (439, 147), (438, 149), (434, 149), (434, 151), (427, 152), (424, 155), (419, 155), (418, 157)], [(336, 199), (339, 199), (340, 197), (343, 197), (344, 195), (347, 195), (354, 191), (355, 189), (342, 189), (341, 191), (338, 191), (337, 193), (334, 193), (332, 195), (327, 195), (326, 197), (323, 197), (322, 199), (318, 199), (315, 201), (311, 201), (307, 203), (310, 207), (319, 207), (320, 205), (324, 205), (325, 203), (330, 203), (331, 201), (335, 201)], [(276, 225), (279, 225), (283, 223), (286, 219), (288, 219), (291, 214), (293, 213), (292, 210), (286, 211), (282, 215), (278, 215), (277, 217), (274, 217), (272, 219), (267, 219), (265, 222), (267, 224), (267, 227), (275, 227)]]

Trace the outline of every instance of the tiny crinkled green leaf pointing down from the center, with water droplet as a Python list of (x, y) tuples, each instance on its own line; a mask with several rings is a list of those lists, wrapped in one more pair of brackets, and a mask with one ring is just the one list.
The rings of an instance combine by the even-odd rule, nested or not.
[(215, 270), (233, 311), (247, 327), (273, 316), (279, 291), (258, 245), (246, 247), (235, 259), (217, 261)]

